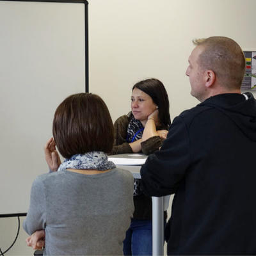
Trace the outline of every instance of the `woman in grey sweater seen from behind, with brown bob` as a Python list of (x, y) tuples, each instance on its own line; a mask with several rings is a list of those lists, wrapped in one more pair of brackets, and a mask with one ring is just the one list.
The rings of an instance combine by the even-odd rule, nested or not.
[[(106, 104), (92, 93), (71, 95), (56, 109), (52, 133), (45, 152), (58, 172), (33, 182), (24, 230), (45, 236), (44, 255), (122, 255), (134, 179), (108, 161), (114, 135)], [(66, 158), (62, 164), (55, 143)]]

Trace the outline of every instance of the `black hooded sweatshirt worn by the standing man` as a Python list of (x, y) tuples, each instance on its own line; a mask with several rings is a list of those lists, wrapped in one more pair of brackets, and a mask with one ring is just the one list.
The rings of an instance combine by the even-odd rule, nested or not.
[(256, 255), (256, 101), (220, 94), (173, 120), (141, 168), (144, 193), (175, 193), (168, 255)]

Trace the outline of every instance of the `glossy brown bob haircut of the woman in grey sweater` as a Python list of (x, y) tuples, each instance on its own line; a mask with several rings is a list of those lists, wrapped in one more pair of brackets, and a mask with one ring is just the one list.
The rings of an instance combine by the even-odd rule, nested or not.
[(92, 93), (70, 95), (55, 111), (52, 134), (60, 154), (70, 158), (113, 148), (113, 122), (104, 101)]

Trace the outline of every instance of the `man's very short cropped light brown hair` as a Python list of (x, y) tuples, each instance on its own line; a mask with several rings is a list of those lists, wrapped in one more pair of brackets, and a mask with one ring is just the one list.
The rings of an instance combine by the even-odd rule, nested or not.
[(193, 44), (204, 47), (198, 58), (201, 68), (212, 70), (223, 87), (240, 89), (244, 77), (245, 58), (237, 42), (225, 36), (211, 36), (193, 40)]

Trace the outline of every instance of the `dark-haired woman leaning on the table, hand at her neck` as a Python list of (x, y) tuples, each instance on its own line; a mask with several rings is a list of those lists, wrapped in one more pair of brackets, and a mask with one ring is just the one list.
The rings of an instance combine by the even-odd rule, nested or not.
[[(169, 100), (157, 79), (140, 81), (132, 87), (131, 112), (114, 124), (115, 146), (111, 154), (159, 150), (171, 124)], [(152, 255), (152, 202), (134, 181), (134, 218), (124, 241), (124, 255)], [(166, 212), (165, 212), (166, 219)]]

